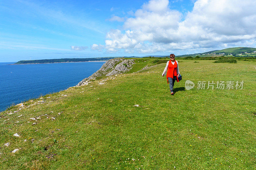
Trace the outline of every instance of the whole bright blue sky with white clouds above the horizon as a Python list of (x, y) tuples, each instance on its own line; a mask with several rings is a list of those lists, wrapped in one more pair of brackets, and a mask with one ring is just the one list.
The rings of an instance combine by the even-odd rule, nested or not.
[(2, 0), (0, 62), (255, 47), (255, 7), (251, 0)]

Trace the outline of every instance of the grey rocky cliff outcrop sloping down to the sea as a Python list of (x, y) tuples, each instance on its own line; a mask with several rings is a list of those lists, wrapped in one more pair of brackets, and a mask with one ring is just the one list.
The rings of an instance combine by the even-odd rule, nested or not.
[(98, 77), (113, 76), (116, 74), (125, 73), (132, 69), (133, 64), (134, 64), (133, 59), (122, 59), (122, 58), (110, 59), (106, 63), (104, 63), (98, 71), (93, 73), (90, 77), (84, 78), (76, 86), (88, 85), (92, 80), (95, 80)]

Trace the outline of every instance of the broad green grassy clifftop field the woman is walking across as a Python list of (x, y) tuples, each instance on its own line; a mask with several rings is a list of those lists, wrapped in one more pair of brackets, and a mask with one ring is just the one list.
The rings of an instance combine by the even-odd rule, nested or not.
[[(255, 62), (212, 62), (179, 62), (174, 96), (162, 63), (9, 108), (0, 114), (1, 169), (256, 169)], [(244, 85), (185, 90), (186, 80)]]

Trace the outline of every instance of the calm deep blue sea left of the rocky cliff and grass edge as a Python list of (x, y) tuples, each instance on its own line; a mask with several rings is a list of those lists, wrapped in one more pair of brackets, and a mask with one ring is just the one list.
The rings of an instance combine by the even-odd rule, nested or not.
[(0, 63), (0, 112), (13, 104), (77, 85), (104, 62), (8, 65)]

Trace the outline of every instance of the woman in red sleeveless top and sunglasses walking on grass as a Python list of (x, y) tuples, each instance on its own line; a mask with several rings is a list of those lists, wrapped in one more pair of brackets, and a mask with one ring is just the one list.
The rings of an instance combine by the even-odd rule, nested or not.
[(178, 61), (175, 60), (174, 54), (170, 54), (170, 59), (171, 60), (166, 63), (162, 76), (164, 77), (167, 71), (167, 74), (166, 74), (167, 83), (170, 83), (170, 92), (171, 92), (171, 95), (174, 95), (173, 85), (175, 80), (179, 82), (178, 77), (180, 75), (180, 71), (179, 71)]

